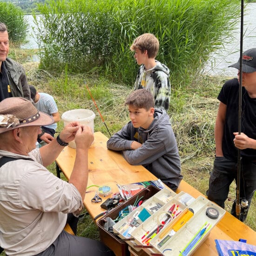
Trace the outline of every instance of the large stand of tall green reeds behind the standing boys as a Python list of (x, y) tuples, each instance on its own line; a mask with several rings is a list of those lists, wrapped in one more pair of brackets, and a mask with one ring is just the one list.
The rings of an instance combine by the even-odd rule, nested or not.
[[(209, 54), (232, 40), (240, 5), (234, 0), (51, 0), (36, 20), (41, 67), (101, 72), (132, 86), (138, 66), (133, 40), (153, 33), (157, 60), (171, 70), (174, 88), (195, 78)], [(34, 16), (36, 18), (36, 16)]]

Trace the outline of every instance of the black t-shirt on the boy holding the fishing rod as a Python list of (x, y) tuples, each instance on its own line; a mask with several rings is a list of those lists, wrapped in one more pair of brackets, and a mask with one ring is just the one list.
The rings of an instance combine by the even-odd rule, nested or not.
[[(218, 100), (227, 105), (224, 134), (222, 139), (223, 155), (237, 161), (237, 148), (234, 145), (233, 132), (238, 132), (239, 83), (236, 78), (223, 85)], [(256, 98), (250, 98), (246, 89), (242, 88), (241, 133), (256, 139)], [(256, 149), (241, 150), (242, 162), (256, 161)]]

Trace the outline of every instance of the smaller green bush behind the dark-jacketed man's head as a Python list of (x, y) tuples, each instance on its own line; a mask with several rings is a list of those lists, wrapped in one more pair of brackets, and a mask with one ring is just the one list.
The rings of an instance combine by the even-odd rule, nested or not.
[(20, 7), (15, 7), (12, 3), (0, 2), (0, 22), (7, 25), (9, 39), (12, 43), (25, 42), (28, 25)]

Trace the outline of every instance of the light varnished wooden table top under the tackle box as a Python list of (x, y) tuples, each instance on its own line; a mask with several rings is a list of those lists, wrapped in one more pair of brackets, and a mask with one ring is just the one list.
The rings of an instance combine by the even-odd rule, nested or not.
[[(108, 150), (106, 146), (107, 141), (108, 138), (101, 132), (94, 133), (94, 143), (89, 148), (88, 153), (88, 186), (107, 185), (110, 186), (112, 192), (115, 193), (118, 192), (116, 184), (122, 185), (157, 180), (155, 175), (151, 174), (143, 166), (130, 165), (119, 152)], [(74, 160), (75, 149), (70, 147), (65, 147), (56, 159), (56, 163), (67, 179), (69, 179), (71, 175)], [(101, 203), (91, 202), (95, 190), (97, 190), (97, 187), (89, 188), (87, 191), (92, 192), (88, 192), (84, 199), (84, 205), (93, 218), (103, 211), (100, 207)], [(183, 180), (176, 193), (181, 191), (195, 198), (202, 195), (202, 193)], [(111, 197), (111, 195), (108, 197)], [(102, 197), (102, 201), (104, 202), (108, 197)], [(202, 246), (195, 251), (194, 255), (206, 255), (206, 251), (208, 256), (217, 255), (215, 239), (238, 241), (240, 238), (246, 239), (249, 244), (256, 245), (256, 232), (226, 212), (221, 221), (212, 229), (209, 237), (204, 241)]]

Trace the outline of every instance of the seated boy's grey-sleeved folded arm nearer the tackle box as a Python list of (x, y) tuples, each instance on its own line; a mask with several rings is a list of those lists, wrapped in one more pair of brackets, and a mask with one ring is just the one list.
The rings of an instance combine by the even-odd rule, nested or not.
[(122, 154), (129, 164), (149, 164), (167, 153), (165, 145), (168, 148), (177, 147), (173, 131), (162, 128), (152, 133), (140, 148), (123, 150)]

